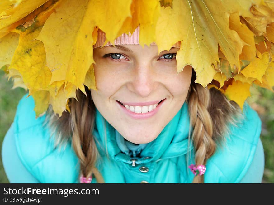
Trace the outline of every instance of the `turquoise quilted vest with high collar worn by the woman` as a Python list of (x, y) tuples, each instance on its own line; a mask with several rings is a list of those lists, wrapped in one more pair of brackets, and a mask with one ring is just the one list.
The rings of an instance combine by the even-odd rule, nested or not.
[[(38, 182), (77, 183), (79, 163), (71, 144), (54, 149), (50, 131), (43, 127), (45, 115), (35, 119), (34, 100), (26, 96), (20, 100), (13, 122), (20, 161)], [(97, 168), (105, 182), (191, 183), (194, 175), (188, 165), (194, 164), (194, 149), (188, 145), (187, 109), (187, 103), (184, 103), (154, 141), (139, 146), (125, 141), (96, 110), (93, 134), (100, 154)], [(244, 120), (237, 126), (229, 125), (226, 144), (218, 147), (208, 159), (205, 183), (238, 183), (247, 174), (259, 142), (261, 120), (247, 103), (243, 113)], [(263, 166), (261, 162), (259, 169), (262, 171)], [(262, 171), (258, 173), (259, 178)], [(96, 183), (94, 178), (92, 183)]]

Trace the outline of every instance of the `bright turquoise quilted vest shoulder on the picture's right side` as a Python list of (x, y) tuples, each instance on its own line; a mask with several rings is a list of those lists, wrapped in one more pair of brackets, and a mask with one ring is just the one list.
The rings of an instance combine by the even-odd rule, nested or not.
[(247, 173), (260, 138), (262, 122), (246, 102), (243, 116), (237, 125), (229, 125), (226, 144), (218, 147), (207, 161), (205, 182), (239, 183)]

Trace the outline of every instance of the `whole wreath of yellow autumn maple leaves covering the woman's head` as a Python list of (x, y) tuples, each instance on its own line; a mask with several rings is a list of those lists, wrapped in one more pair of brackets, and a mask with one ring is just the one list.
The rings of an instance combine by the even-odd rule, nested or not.
[[(140, 26), (139, 43), (144, 46), (155, 41), (158, 52), (169, 50), (180, 41), (177, 71), (191, 65), (196, 71), (196, 83), (204, 87), (212, 79), (223, 85), (225, 79), (234, 77), (236, 81), (226, 85), (230, 90), (237, 87), (239, 80), (272, 90), (272, 63), (266, 68), (266, 54), (254, 58), (252, 32), (262, 35), (256, 42), (259, 52), (274, 53), (271, 42), (267, 41), (273, 42), (273, 13), (270, 0), (3, 0), (0, 2), (0, 39), (12, 35), (6, 35), (8, 32), (17, 32), (20, 37), (19, 44), (17, 35), (17, 43), (15, 38), (11, 47), (0, 51), (0, 63), (11, 64), (8, 75), (14, 78), (15, 86), (24, 82), (30, 94), (44, 93), (42, 96), (48, 96), (48, 100), (36, 100), (37, 103), (44, 103), (44, 110), (51, 103), (61, 116), (62, 111), (68, 109), (68, 99), (76, 98), (77, 87), (83, 92), (84, 85), (96, 89), (92, 45), (97, 39), (97, 30), (104, 31), (106, 42), (113, 43), (121, 33), (132, 33)], [(258, 36), (255, 39), (259, 39)], [(12, 52), (15, 55), (11, 59)], [(223, 57), (219, 60), (220, 53)], [(246, 66), (248, 63), (243, 60), (250, 61), (250, 65)], [(239, 73), (241, 66), (243, 72)], [(261, 67), (255, 69), (256, 66)], [(226, 93), (229, 96), (229, 91)], [(241, 100), (236, 100), (241, 104)], [(37, 106), (36, 114), (42, 114), (43, 109)]]

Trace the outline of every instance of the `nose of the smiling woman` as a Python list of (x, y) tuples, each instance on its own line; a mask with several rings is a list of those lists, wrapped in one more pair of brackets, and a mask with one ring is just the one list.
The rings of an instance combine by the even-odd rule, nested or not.
[(131, 81), (128, 83), (128, 89), (141, 97), (148, 97), (155, 89), (156, 73), (149, 63), (136, 65), (132, 69)]

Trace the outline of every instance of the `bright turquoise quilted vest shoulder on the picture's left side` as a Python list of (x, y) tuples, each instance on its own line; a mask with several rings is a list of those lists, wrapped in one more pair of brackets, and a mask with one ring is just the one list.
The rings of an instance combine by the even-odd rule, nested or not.
[(14, 118), (16, 149), (26, 169), (41, 183), (75, 183), (78, 158), (70, 143), (54, 148), (45, 115), (35, 118), (32, 96), (20, 100)]

